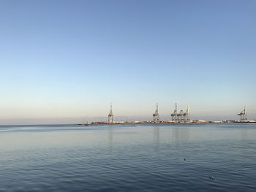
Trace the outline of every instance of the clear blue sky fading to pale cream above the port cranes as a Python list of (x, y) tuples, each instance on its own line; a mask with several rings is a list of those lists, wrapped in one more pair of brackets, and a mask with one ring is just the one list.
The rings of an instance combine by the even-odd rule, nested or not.
[[(256, 118), (256, 1), (0, 1), (0, 120)], [(181, 109), (181, 108), (180, 108)], [(1, 122), (0, 122), (1, 123)]]

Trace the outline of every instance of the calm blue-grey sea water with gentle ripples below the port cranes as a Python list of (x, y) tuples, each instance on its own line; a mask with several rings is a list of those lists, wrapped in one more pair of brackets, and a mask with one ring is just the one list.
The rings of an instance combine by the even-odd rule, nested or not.
[(256, 191), (256, 123), (0, 126), (0, 191)]

